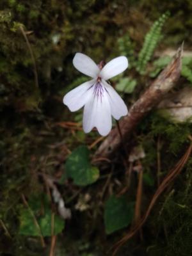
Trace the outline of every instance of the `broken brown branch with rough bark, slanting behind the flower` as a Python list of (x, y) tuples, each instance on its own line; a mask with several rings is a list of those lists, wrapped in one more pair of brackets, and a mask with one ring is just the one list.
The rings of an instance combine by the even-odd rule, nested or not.
[(179, 47), (170, 64), (164, 68), (146, 92), (134, 103), (129, 114), (119, 122), (122, 138), (120, 138), (118, 128), (113, 129), (95, 153), (96, 157), (110, 157), (121, 146), (122, 140), (127, 143), (136, 125), (173, 88), (180, 77), (182, 48), (183, 45)]

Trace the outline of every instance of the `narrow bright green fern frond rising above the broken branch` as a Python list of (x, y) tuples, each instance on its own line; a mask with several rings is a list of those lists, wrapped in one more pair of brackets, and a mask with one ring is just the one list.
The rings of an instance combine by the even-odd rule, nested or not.
[(162, 38), (162, 28), (168, 17), (170, 16), (169, 12), (164, 13), (161, 17), (154, 22), (152, 28), (145, 36), (143, 47), (139, 53), (138, 63), (136, 69), (140, 74), (145, 72), (145, 67), (150, 61), (152, 55), (154, 54), (154, 50), (157, 47), (157, 44)]

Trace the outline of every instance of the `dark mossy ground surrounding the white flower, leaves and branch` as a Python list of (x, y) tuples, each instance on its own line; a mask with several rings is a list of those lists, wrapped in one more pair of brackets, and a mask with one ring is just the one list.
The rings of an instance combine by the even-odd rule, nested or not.
[[(10, 256), (49, 255), (50, 237), (42, 248), (36, 237), (19, 235), (19, 212), (26, 198), (46, 191), (38, 173), (60, 177), (70, 150), (78, 145), (91, 145), (96, 132), (85, 136), (58, 126), (58, 122), (79, 122), (81, 111), (69, 113), (62, 97), (75, 83), (79, 73), (72, 66), (75, 52), (84, 52), (97, 63), (119, 54), (118, 38), (129, 34), (134, 51), (139, 52), (152, 22), (170, 11), (164, 26), (166, 34), (159, 49), (176, 49), (182, 41), (191, 49), (191, 1), (61, 1), (1, 0), (0, 3), (0, 108), (1, 108), (1, 180), (0, 180), (0, 254)], [(35, 56), (38, 86), (34, 79), (34, 63), (22, 35), (26, 31)], [(129, 51), (129, 49), (127, 49)], [(133, 77), (135, 70), (128, 70)], [(128, 74), (128, 73), (127, 73)], [(79, 78), (79, 83), (81, 77)], [(75, 81), (75, 82), (74, 82)], [(132, 95), (125, 95), (128, 106), (138, 99), (150, 83), (147, 76)], [(182, 83), (188, 84), (187, 81)], [(179, 84), (182, 86), (182, 84)], [(143, 212), (157, 188), (157, 144), (161, 155), (161, 177), (170, 170), (189, 145), (192, 125), (173, 124), (156, 111), (148, 114), (133, 134), (130, 147), (142, 145), (145, 158), (143, 170), (150, 174), (153, 186), (144, 183)], [(92, 154), (97, 146), (92, 148)], [(60, 191), (72, 209), (72, 220), (58, 236), (55, 255), (106, 255), (109, 248), (126, 230), (111, 236), (104, 233), (103, 204), (111, 191), (118, 193), (126, 186), (122, 157), (101, 166), (99, 181), (81, 189), (67, 182)], [(191, 169), (189, 158), (175, 184), (158, 200), (143, 228), (143, 239), (134, 237), (119, 255), (191, 255), (192, 211)], [(106, 190), (106, 180), (111, 181)], [(136, 174), (132, 191), (136, 193)], [(90, 209), (74, 209), (79, 195), (91, 195)]]

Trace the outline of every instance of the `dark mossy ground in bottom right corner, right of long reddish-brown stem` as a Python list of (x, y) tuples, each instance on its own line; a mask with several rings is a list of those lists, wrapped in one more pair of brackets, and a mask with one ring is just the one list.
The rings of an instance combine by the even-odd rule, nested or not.
[[(191, 231), (192, 231), (192, 195), (191, 195), (191, 160), (188, 162), (188, 172), (182, 176), (178, 190), (172, 193), (172, 196), (167, 197), (161, 210), (159, 211), (157, 232), (154, 245), (148, 248), (148, 255), (158, 256), (166, 255), (181, 255), (186, 256), (191, 254)], [(189, 168), (190, 166), (190, 168)], [(190, 172), (189, 172), (190, 169)], [(163, 237), (166, 236), (166, 242)]]

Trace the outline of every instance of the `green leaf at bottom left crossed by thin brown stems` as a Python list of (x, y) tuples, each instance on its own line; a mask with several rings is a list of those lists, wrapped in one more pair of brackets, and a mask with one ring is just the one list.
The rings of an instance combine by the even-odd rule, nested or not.
[[(29, 198), (28, 204), (29, 209), (26, 207), (20, 209), (19, 234), (23, 236), (52, 236), (51, 205), (49, 205), (49, 201), (45, 195), (43, 200), (42, 196)], [(44, 211), (42, 211), (42, 209), (44, 209)], [(44, 213), (42, 214), (42, 212)], [(38, 225), (35, 223), (34, 216)], [(55, 215), (53, 234), (60, 234), (64, 227), (65, 220)]]

